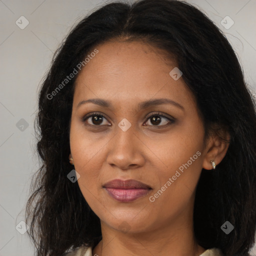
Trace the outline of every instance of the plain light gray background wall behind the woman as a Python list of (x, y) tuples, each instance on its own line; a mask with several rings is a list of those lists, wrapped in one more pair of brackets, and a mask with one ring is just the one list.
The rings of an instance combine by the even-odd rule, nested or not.
[[(199, 7), (225, 33), (256, 98), (256, 0), (187, 2)], [(27, 232), (20, 234), (15, 227), (24, 230), (24, 223), (19, 222), (24, 220), (31, 176), (39, 166), (33, 130), (38, 84), (71, 26), (102, 3), (0, 0), (0, 256), (33, 255)], [(22, 15), (29, 21), (24, 29), (15, 23)], [(228, 19), (224, 19), (226, 27), (221, 24), (227, 15), (234, 21), (230, 28)], [(251, 254), (256, 255), (255, 247)]]

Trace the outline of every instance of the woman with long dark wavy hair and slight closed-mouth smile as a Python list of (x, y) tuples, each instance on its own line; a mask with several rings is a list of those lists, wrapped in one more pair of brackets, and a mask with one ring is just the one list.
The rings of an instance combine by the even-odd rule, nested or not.
[(254, 106), (197, 8), (115, 2), (82, 19), (39, 93), (36, 255), (248, 255)]

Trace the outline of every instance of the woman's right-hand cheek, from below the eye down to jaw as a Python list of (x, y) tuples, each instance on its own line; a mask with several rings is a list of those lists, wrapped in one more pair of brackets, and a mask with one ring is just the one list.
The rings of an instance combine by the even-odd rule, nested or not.
[(180, 212), (187, 206), (202, 169), (203, 134), (202, 126), (191, 122), (170, 133), (161, 146), (151, 147), (162, 166), (157, 170), (159, 185), (151, 197), (153, 204), (162, 205), (167, 212)]

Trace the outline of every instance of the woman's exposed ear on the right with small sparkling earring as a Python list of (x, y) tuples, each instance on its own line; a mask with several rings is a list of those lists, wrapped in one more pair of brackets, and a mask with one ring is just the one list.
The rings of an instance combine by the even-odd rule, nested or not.
[(206, 140), (202, 167), (207, 170), (213, 169), (211, 160), (217, 166), (224, 158), (229, 143), (230, 134), (227, 130), (218, 129), (214, 133), (212, 132)]

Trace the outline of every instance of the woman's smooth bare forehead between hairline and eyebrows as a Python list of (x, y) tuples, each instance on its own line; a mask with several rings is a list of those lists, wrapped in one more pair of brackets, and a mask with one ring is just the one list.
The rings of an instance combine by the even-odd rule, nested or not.
[(166, 61), (160, 50), (137, 41), (112, 41), (95, 48), (98, 53), (76, 78), (74, 103), (96, 97), (116, 104), (166, 96), (192, 100), (182, 76), (174, 80), (169, 74), (176, 67), (175, 61)]

